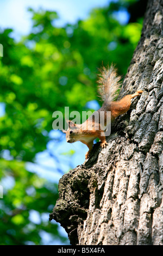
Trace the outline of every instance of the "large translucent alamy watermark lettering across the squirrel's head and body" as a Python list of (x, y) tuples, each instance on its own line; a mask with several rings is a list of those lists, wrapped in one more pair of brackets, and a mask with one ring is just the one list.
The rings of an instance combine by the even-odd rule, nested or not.
[[(73, 129), (101, 130), (104, 131), (105, 136), (109, 136), (111, 133), (110, 111), (95, 111), (93, 113), (91, 111), (82, 111), (81, 116), (78, 111), (69, 112), (69, 107), (65, 107), (65, 123), (64, 115), (61, 111), (54, 111), (52, 117), (55, 118), (52, 124), (53, 130), (67, 130), (73, 124)], [(70, 119), (71, 122), (69, 121)]]

